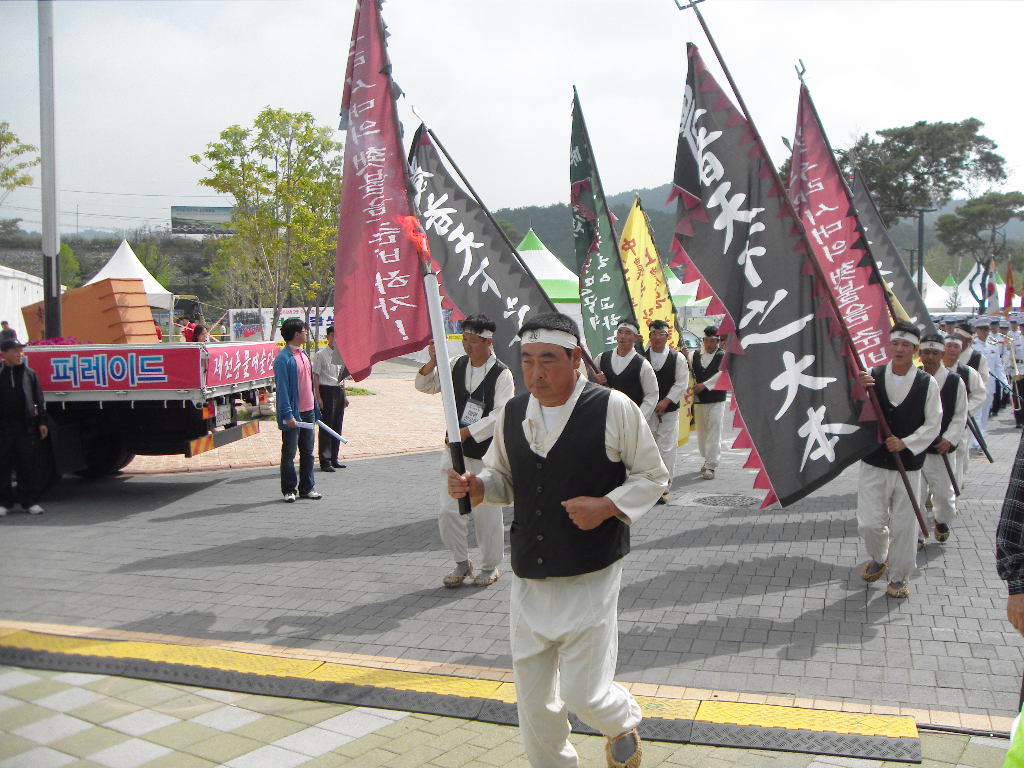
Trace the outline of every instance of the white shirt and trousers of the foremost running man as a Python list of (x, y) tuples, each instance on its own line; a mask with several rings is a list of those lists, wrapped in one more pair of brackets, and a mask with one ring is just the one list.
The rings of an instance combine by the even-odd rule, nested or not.
[[(538, 456), (547, 457), (561, 436), (586, 383), (578, 379), (569, 399), (557, 408), (542, 408), (536, 397), (529, 397), (521, 428)], [(609, 461), (626, 466), (627, 477), (607, 498), (631, 523), (651, 508), (668, 480), (657, 445), (643, 422), (629, 397), (610, 392), (605, 452)], [(499, 420), (479, 475), (487, 504), (513, 501), (504, 428), (504, 420)], [(512, 575), (510, 640), (519, 730), (526, 758), (536, 768), (579, 766), (568, 740), (569, 711), (608, 736), (625, 733), (640, 722), (636, 699), (613, 682), (622, 572), (622, 560), (617, 560), (582, 575)]]

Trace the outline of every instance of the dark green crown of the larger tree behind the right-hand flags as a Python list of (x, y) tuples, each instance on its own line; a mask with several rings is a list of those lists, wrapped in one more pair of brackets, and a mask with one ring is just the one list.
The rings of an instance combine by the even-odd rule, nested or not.
[(979, 133), (980, 120), (959, 123), (919, 121), (878, 131), (881, 140), (864, 134), (838, 153), (844, 171), (856, 168), (864, 176), (886, 226), (914, 215), (914, 209), (948, 203), (954, 194), (971, 194), (977, 184), (1004, 181), (1006, 161), (995, 142)]

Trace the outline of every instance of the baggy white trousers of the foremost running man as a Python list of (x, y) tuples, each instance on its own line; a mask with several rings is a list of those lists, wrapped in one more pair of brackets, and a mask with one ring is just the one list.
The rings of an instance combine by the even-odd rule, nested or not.
[(622, 560), (579, 577), (512, 578), (511, 647), (519, 732), (534, 768), (577, 768), (568, 712), (606, 736), (635, 728), (636, 699), (613, 682)]

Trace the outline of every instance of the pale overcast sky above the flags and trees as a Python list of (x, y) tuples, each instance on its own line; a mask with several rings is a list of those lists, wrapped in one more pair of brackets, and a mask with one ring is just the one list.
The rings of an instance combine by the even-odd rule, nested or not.
[[(61, 230), (166, 228), (171, 205), (229, 205), (188, 158), (264, 106), (337, 128), (355, 0), (57, 0)], [(1024, 189), (1016, 94), (1024, 2), (707, 0), (700, 10), (776, 163), (802, 59), (834, 146), (975, 117)], [(568, 200), (572, 85), (608, 194), (671, 180), (686, 43), (675, 0), (388, 0), (399, 116), (418, 113), (492, 209)], [(0, 122), (39, 143), (37, 7), (0, 0)], [(1010, 87), (1008, 87), (1010, 86)], [(338, 140), (343, 138), (337, 133)], [(37, 188), (0, 218), (39, 229)], [(664, 201), (656, 201), (662, 203)], [(650, 203), (648, 203), (650, 205)], [(566, 226), (569, 222), (566, 220)]]

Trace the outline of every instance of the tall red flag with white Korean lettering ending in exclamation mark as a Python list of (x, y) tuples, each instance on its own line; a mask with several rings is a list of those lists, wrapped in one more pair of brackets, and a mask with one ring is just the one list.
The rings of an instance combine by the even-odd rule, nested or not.
[(423, 266), (400, 221), (413, 215), (379, 0), (358, 0), (341, 103), (344, 183), (335, 325), (352, 377), (430, 340)]

